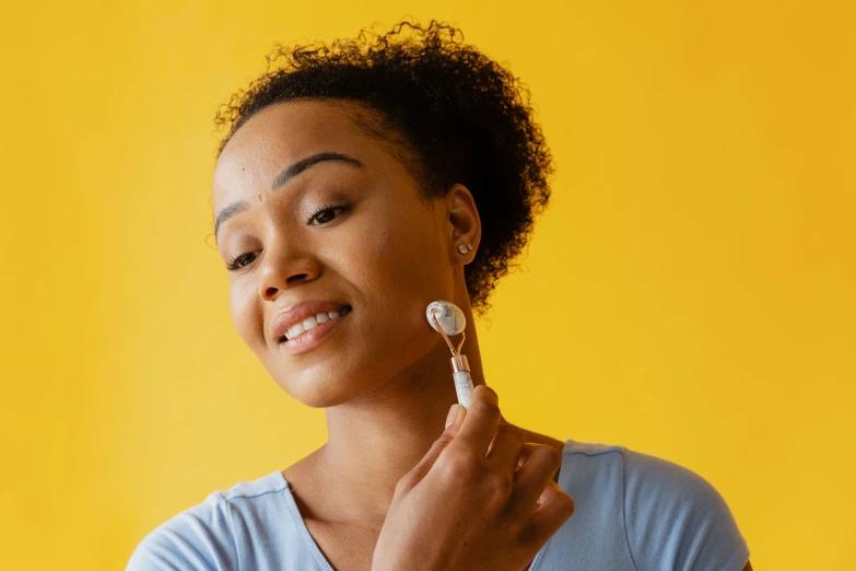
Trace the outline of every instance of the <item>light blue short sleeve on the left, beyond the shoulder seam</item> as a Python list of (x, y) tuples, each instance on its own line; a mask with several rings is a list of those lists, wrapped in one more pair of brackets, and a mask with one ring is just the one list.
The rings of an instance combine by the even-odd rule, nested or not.
[(236, 571), (228, 510), (221, 492), (209, 494), (150, 532), (126, 571)]

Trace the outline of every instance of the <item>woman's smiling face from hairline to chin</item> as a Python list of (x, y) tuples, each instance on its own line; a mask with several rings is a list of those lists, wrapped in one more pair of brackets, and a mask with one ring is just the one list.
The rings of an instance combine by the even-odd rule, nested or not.
[[(425, 202), (399, 160), (342, 105), (360, 109), (310, 100), (265, 108), (233, 135), (213, 182), (216, 215), (244, 202), (216, 229), (224, 264), (237, 258), (228, 273), (238, 335), (282, 388), (313, 407), (364, 395), (443, 343), (425, 307), (466, 303), (455, 300), (455, 278), (471, 259), (454, 257), (450, 202)], [(347, 159), (314, 162), (282, 182), (318, 153)], [(273, 335), (273, 318), (308, 300), (351, 311), (319, 343), (294, 352)]]

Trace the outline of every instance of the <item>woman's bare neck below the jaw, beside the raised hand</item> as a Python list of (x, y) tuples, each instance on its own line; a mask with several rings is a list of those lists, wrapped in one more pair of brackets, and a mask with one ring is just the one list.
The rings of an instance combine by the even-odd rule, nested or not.
[[(476, 386), (484, 384), (484, 375), (470, 314), (467, 323), (461, 354)], [(383, 523), (396, 483), (439, 438), (449, 407), (458, 401), (450, 359), (437, 334), (423, 359), (360, 399), (326, 409), (328, 443), (317, 452), (317, 473), (336, 475), (327, 488), (342, 498), (330, 498), (342, 518)]]

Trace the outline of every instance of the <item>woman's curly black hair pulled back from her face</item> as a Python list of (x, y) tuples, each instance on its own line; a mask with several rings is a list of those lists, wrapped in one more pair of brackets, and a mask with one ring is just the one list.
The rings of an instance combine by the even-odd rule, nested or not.
[[(354, 119), (398, 149), (424, 198), (445, 196), (455, 183), (472, 193), (482, 235), (465, 277), (472, 308), (483, 315), (547, 207), (553, 165), (526, 85), (462, 39), (446, 23), (423, 28), (404, 20), (329, 46), (274, 44), (267, 71), (220, 106), (214, 124), (227, 135), (216, 158), (244, 123), (274, 103), (348, 101), (374, 112), (374, 119)], [(271, 70), (279, 58), (284, 65)]]

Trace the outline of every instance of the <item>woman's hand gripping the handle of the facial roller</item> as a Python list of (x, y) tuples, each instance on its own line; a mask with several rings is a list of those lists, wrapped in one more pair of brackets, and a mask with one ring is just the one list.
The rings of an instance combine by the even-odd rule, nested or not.
[(456, 421), (396, 486), (373, 571), (520, 571), (574, 513), (552, 480), (561, 453), (501, 423), (492, 388), (478, 385), (469, 411), (455, 406)]

